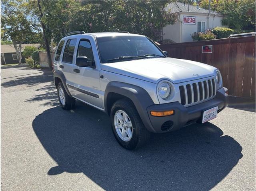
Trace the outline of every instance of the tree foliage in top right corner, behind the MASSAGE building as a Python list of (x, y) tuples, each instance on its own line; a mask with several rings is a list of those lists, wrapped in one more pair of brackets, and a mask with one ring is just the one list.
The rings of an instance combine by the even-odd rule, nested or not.
[[(208, 9), (209, 0), (199, 0)], [(211, 0), (211, 10), (224, 15), (222, 24), (234, 30), (255, 31), (255, 0)]]

